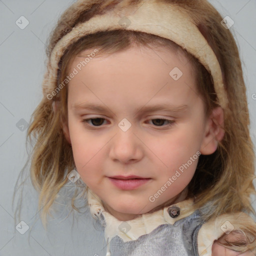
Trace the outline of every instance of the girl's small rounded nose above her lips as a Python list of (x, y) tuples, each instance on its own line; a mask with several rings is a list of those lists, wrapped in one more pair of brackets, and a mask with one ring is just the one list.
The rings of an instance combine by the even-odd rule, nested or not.
[(117, 126), (116, 134), (109, 142), (109, 157), (113, 161), (122, 163), (137, 162), (143, 156), (143, 143), (138, 138), (138, 135), (133, 133), (132, 125), (126, 131)]

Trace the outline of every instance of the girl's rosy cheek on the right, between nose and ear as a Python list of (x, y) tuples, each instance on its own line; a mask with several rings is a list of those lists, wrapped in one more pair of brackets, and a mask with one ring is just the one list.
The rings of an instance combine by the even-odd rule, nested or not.
[(152, 148), (158, 173), (158, 178), (164, 184), (168, 178), (172, 178), (170, 192), (187, 185), (194, 175), (199, 159), (199, 137), (194, 135), (190, 128), (183, 128), (175, 132), (152, 140), (148, 146)]

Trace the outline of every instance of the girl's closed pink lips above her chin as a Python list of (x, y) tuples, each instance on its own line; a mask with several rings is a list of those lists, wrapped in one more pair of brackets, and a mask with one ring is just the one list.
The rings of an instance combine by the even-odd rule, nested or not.
[(108, 177), (108, 179), (111, 181), (113, 185), (115, 185), (119, 189), (132, 190), (147, 183), (151, 178), (145, 178), (145, 177), (140, 177), (135, 175), (129, 175), (129, 176), (117, 175), (117, 176)]

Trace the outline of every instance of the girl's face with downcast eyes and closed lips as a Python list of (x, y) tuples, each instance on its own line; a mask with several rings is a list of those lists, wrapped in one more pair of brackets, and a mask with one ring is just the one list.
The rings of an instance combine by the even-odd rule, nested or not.
[[(82, 60), (76, 56), (70, 70)], [(174, 69), (176, 80), (169, 74), (175, 67), (183, 73)], [(190, 63), (162, 47), (90, 59), (68, 84), (68, 129), (81, 179), (121, 220), (178, 195), (199, 151), (216, 149)]]

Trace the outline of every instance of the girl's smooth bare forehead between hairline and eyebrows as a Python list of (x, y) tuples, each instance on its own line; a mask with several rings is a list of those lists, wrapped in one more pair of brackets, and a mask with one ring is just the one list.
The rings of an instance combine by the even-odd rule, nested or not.
[(72, 104), (89, 97), (111, 103), (114, 97), (119, 105), (126, 101), (159, 103), (164, 98), (181, 105), (198, 97), (190, 64), (166, 48), (132, 47), (92, 57), (86, 64), (83, 58), (77, 56), (70, 69), (77, 71), (68, 84)]

